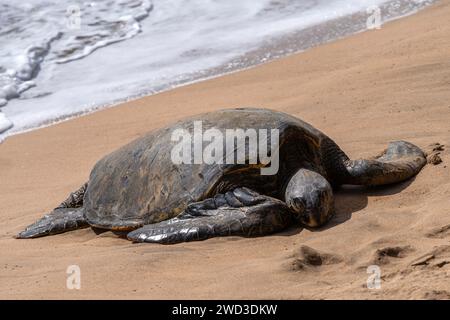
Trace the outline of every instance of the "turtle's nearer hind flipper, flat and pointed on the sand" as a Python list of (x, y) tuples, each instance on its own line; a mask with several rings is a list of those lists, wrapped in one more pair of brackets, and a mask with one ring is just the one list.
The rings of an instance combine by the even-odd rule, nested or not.
[(28, 239), (87, 227), (82, 208), (56, 208), (20, 232), (16, 238)]

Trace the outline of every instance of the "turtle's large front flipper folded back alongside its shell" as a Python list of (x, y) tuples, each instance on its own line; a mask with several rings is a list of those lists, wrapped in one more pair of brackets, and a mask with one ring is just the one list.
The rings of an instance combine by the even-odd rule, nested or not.
[(277, 199), (237, 188), (190, 204), (178, 217), (145, 225), (128, 234), (135, 242), (173, 244), (218, 236), (256, 237), (293, 223), (292, 212)]

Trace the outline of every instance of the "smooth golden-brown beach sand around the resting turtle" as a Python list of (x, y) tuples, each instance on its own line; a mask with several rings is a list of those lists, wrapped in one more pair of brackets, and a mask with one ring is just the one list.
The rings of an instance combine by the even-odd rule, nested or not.
[[(449, 16), (442, 1), (381, 30), (10, 137), (0, 146), (0, 298), (450, 298)], [(89, 228), (13, 238), (108, 152), (176, 119), (243, 106), (298, 116), (353, 158), (399, 139), (449, 147), (408, 182), (338, 191), (335, 218), (314, 232), (173, 246)], [(380, 289), (366, 285), (373, 264)], [(69, 265), (80, 267), (80, 290), (66, 287)]]

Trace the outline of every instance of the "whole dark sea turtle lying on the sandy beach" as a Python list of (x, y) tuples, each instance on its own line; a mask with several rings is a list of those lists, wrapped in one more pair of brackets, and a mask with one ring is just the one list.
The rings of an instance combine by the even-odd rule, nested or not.
[[(266, 148), (277, 145), (278, 170), (261, 174), (271, 163), (260, 157), (251, 163), (249, 150), (255, 146), (247, 131), (244, 163), (225, 161), (236, 159), (239, 144), (234, 139), (224, 161), (175, 163), (173, 150), (180, 142), (174, 140), (174, 132), (195, 133), (196, 121), (203, 130), (224, 135), (238, 128), (278, 130), (278, 142), (270, 140), (275, 133), (263, 141)], [(206, 145), (201, 142), (202, 148)], [(191, 152), (191, 142), (186, 146)], [(135, 242), (169, 244), (215, 236), (263, 236), (294, 224), (315, 228), (332, 216), (333, 189), (339, 185), (395, 183), (414, 176), (425, 164), (425, 154), (409, 142), (391, 142), (370, 160), (350, 160), (333, 140), (291, 115), (225, 109), (150, 132), (105, 156), (85, 185), (17, 237), (91, 226), (121, 231)]]

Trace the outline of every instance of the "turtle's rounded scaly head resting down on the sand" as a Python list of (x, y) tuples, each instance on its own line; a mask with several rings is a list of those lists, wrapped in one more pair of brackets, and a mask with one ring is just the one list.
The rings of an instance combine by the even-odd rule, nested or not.
[(291, 177), (285, 201), (295, 219), (307, 227), (320, 227), (332, 216), (332, 188), (323, 176), (311, 170), (300, 169)]

